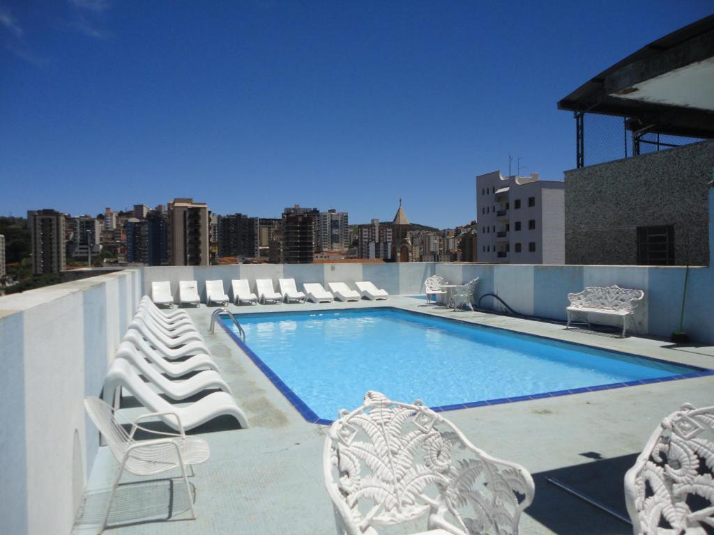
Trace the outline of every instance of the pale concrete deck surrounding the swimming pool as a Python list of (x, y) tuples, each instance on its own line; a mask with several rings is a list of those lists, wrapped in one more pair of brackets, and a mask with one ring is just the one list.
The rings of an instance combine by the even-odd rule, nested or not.
[[(564, 325), (555, 323), (480, 312), (453, 312), (444, 307), (427, 306), (423, 300), (411, 297), (333, 305), (230, 305), (229, 309), (240, 315), (384, 306), (714, 368), (714, 347), (683, 347), (662, 340), (620, 339), (577, 329), (566, 331)], [(186, 310), (198, 329), (206, 333), (212, 309), (201, 305)], [(325, 428), (306, 422), (224, 330), (216, 328), (216, 334), (203, 337), (238, 404), (248, 415), (251, 427), (216, 430), (216, 426), (211, 428), (206, 424), (197, 429), (196, 436), (206, 439), (211, 447), (211, 459), (196, 466), (196, 475), (191, 477), (197, 489), (198, 518), (195, 521), (154, 521), (124, 525), (108, 532), (335, 533), (331, 501), (323, 485)], [(518, 462), (533, 474), (535, 500), (521, 519), (521, 534), (628, 534), (630, 526), (558, 489), (548, 482), (548, 477), (575, 486), (626, 516), (625, 504), (620, 499), (621, 487), (624, 472), (633, 464), (634, 456), (666, 414), (678, 409), (683, 402), (695, 406), (713, 404), (713, 392), (714, 376), (708, 376), (461, 409), (445, 416), (477, 447), (496, 457)], [(140, 411), (122, 409), (130, 415)], [(106, 496), (116, 470), (111, 453), (101, 447), (87, 484), (88, 494), (100, 499)], [(125, 477), (124, 481), (141, 479)], [(150, 486), (143, 495), (131, 485), (122, 487), (126, 499), (115, 502), (119, 504), (117, 509), (125, 503), (130, 509), (139, 499), (146, 509), (151, 506), (151, 496), (170, 496), (171, 490), (175, 490), (174, 500), (181, 499), (180, 484), (175, 488), (167, 486), (171, 490), (164, 494), (158, 487), (161, 484)], [(157, 503), (153, 511), (156, 516), (161, 516), (161, 508), (162, 504)], [(163, 508), (166, 509), (166, 504)], [(74, 532), (93, 532), (96, 526), (90, 519), (99, 510), (101, 500), (88, 499)]]

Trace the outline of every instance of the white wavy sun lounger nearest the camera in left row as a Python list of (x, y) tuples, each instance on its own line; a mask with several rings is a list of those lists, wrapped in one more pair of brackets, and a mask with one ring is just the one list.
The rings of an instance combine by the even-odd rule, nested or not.
[(104, 379), (104, 401), (111, 402), (109, 393), (114, 393), (117, 388), (125, 388), (136, 400), (151, 412), (155, 412), (156, 417), (164, 424), (181, 430), (176, 418), (169, 418), (166, 415), (175, 413), (183, 424), (183, 429), (193, 429), (199, 425), (212, 420), (215, 417), (229, 414), (238, 420), (241, 427), (248, 427), (246, 414), (238, 407), (236, 400), (227, 392), (213, 392), (206, 397), (198, 399), (187, 407), (179, 407), (166, 401), (159, 394), (141, 380), (139, 374), (124, 359), (116, 359), (109, 368), (109, 373)]

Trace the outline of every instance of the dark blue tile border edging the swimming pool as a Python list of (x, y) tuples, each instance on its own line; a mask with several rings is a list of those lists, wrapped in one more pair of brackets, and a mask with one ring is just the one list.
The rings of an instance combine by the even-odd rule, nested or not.
[[(398, 310), (400, 312), (406, 312), (408, 314), (413, 314), (413, 315), (420, 315), (420, 316), (426, 316), (426, 317), (431, 317), (435, 318), (437, 320), (443, 320), (443, 321), (456, 321), (460, 322), (466, 325), (472, 325), (475, 327), (483, 327), (485, 329), (496, 329), (504, 332), (508, 332), (510, 334), (520, 334), (524, 336), (532, 336), (535, 338), (543, 338), (545, 340), (551, 340), (554, 342), (561, 342), (563, 344), (570, 344), (570, 345), (578, 345), (578, 346), (583, 346), (583, 347), (589, 347), (591, 349), (595, 350), (600, 350), (602, 348), (600, 347), (595, 347), (591, 345), (586, 345), (586, 344), (580, 344), (578, 342), (565, 342), (563, 340), (556, 340), (555, 338), (549, 338), (541, 335), (531, 335), (528, 333), (518, 333), (516, 331), (508, 330), (508, 329), (503, 329), (502, 327), (491, 327), (491, 325), (478, 325), (475, 323), (471, 322), (466, 322), (463, 320), (459, 320), (458, 318), (443, 318), (431, 314), (423, 314), (422, 312), (414, 312), (413, 310), (405, 310), (402, 308), (398, 307), (369, 307), (369, 308), (353, 308), (353, 309), (346, 309), (346, 310)], [(338, 312), (344, 312), (345, 310), (338, 310)], [(271, 315), (274, 312), (258, 312), (258, 313), (253, 313), (251, 316), (255, 317), (257, 315)], [(279, 314), (290, 314), (291, 312), (278, 312)], [(303, 312), (301, 311), (296, 311), (294, 312), (296, 314), (302, 314)], [(251, 350), (250, 347), (248, 347), (245, 343), (243, 343), (243, 340), (241, 340), (238, 335), (231, 330), (228, 325), (226, 325), (226, 322), (223, 322), (221, 319), (225, 318), (228, 316), (219, 316), (219, 321), (218, 324), (223, 327), (223, 330), (228, 333), (228, 336), (230, 336), (234, 342), (238, 345), (238, 347), (243, 350), (243, 352), (248, 355), (248, 357), (253, 361), (253, 364), (258, 367), (258, 370), (261, 370), (263, 374), (266, 376), (267, 379), (270, 380), (271, 383), (278, 389), (278, 391), (283, 394), (283, 397), (285, 397), (288, 402), (290, 402), (293, 407), (301, 414), (301, 416), (309, 423), (311, 424), (318, 424), (318, 425), (331, 425), (334, 420), (330, 419), (325, 419), (319, 417), (315, 412), (313, 412), (313, 409), (308, 407), (308, 405), (301, 399), (301, 397), (298, 396), (293, 390), (288, 387), (287, 384), (283, 382), (283, 380), (278, 377), (278, 374), (273, 372), (271, 368), (266, 365), (263, 360), (261, 360), (258, 355), (256, 355), (253, 350)], [(240, 316), (238, 316), (240, 317)], [(484, 399), (482, 401), (478, 402), (468, 402), (468, 403), (456, 403), (456, 404), (449, 404), (449, 405), (441, 405), (438, 407), (429, 407), (432, 409), (434, 412), (446, 412), (446, 411), (453, 411), (453, 410), (461, 410), (461, 409), (473, 409), (476, 407), (488, 407), (489, 405), (500, 405), (500, 404), (506, 404), (506, 403), (517, 403), (517, 402), (522, 402), (522, 401), (534, 401), (536, 399), (545, 399), (548, 397), (560, 397), (560, 396), (568, 396), (568, 395), (573, 395), (573, 394), (583, 394), (586, 392), (599, 392), (601, 390), (610, 390), (610, 389), (615, 389), (615, 388), (625, 388), (625, 387), (634, 387), (634, 386), (640, 386), (641, 384), (653, 384), (657, 382), (666, 382), (666, 381), (678, 381), (680, 379), (693, 379), (695, 377), (707, 377), (709, 375), (714, 375), (714, 370), (708, 370), (707, 368), (702, 368), (698, 366), (690, 366), (690, 365), (680, 365), (677, 362), (670, 362), (668, 360), (663, 360), (663, 359), (657, 359), (654, 357), (645, 357), (644, 355), (635, 355), (633, 353), (626, 353), (623, 351), (618, 351), (618, 350), (610, 350), (610, 349), (602, 349), (603, 351), (608, 351), (610, 353), (615, 353), (618, 355), (625, 355), (626, 357), (637, 357), (645, 360), (653, 360), (655, 362), (661, 362), (663, 364), (667, 365), (676, 365), (676, 366), (682, 366), (682, 367), (688, 367), (692, 370), (699, 370), (697, 372), (692, 372), (692, 373), (687, 373), (687, 374), (680, 374), (680, 375), (671, 375), (669, 377), (656, 377), (654, 379), (642, 379), (642, 380), (633, 380), (633, 381), (625, 381), (625, 382), (618, 382), (618, 383), (612, 383), (612, 384), (598, 384), (593, 387), (581, 387), (581, 388), (573, 388), (573, 389), (568, 389), (568, 390), (557, 390), (555, 392), (542, 392), (539, 394), (528, 394), (528, 395), (523, 395), (523, 396), (516, 396), (516, 397), (501, 397), (498, 399)]]

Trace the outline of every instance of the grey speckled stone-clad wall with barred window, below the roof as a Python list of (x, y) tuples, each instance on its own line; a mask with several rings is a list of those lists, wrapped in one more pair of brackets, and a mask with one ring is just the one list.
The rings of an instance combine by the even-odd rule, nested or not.
[(636, 265), (637, 227), (674, 225), (675, 264), (707, 265), (714, 141), (565, 171), (565, 263)]

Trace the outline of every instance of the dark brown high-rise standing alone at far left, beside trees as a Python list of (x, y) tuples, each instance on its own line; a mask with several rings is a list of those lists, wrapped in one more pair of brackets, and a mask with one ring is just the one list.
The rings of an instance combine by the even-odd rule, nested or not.
[(55, 210), (30, 210), (27, 225), (32, 240), (32, 272), (41, 275), (64, 270), (64, 214)]

